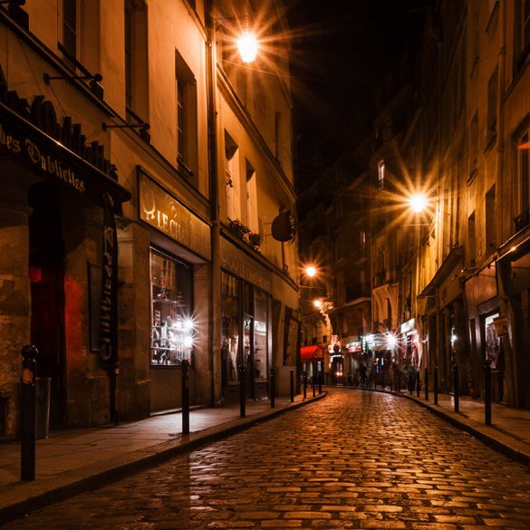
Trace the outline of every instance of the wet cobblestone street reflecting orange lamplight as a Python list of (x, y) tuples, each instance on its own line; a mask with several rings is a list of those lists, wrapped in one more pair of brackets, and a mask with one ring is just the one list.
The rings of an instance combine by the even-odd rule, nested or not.
[(327, 398), (5, 529), (530, 528), (530, 473), (410, 400)]

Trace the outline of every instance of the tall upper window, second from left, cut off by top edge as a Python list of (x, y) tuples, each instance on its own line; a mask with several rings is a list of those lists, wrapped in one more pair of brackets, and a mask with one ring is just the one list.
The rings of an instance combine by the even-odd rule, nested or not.
[(130, 123), (147, 120), (147, 8), (125, 2), (125, 109)]

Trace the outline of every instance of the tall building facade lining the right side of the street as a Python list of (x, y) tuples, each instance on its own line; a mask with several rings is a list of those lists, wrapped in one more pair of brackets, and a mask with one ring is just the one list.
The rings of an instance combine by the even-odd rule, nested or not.
[[(414, 244), (397, 254), (393, 304), (389, 296), (397, 350), (409, 350), (414, 327), (430, 386), (436, 368), (439, 390), (483, 398), (491, 370), (493, 399), (524, 408), (526, 15), (511, 0), (440, 1), (426, 15), (415, 111), (391, 135), (400, 169), (390, 186), (401, 198), (425, 193), (428, 207), (411, 223)], [(391, 249), (376, 230), (380, 239)]]

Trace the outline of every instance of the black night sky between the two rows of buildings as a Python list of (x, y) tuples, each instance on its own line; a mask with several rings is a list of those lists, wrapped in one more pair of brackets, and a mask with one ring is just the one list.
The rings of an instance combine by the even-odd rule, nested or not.
[(292, 87), (302, 178), (308, 164), (366, 138), (392, 63), (418, 50), (429, 0), (297, 0), (287, 15), (293, 31)]

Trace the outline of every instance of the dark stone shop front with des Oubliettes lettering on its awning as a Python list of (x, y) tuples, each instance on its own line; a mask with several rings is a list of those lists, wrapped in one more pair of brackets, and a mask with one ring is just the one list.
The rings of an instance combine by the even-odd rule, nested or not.
[(17, 429), (21, 349), (29, 343), (50, 423), (107, 423), (119, 358), (115, 219), (130, 192), (81, 124), (59, 119), (42, 95), (28, 101), (8, 90), (1, 68), (0, 79), (0, 434)]

